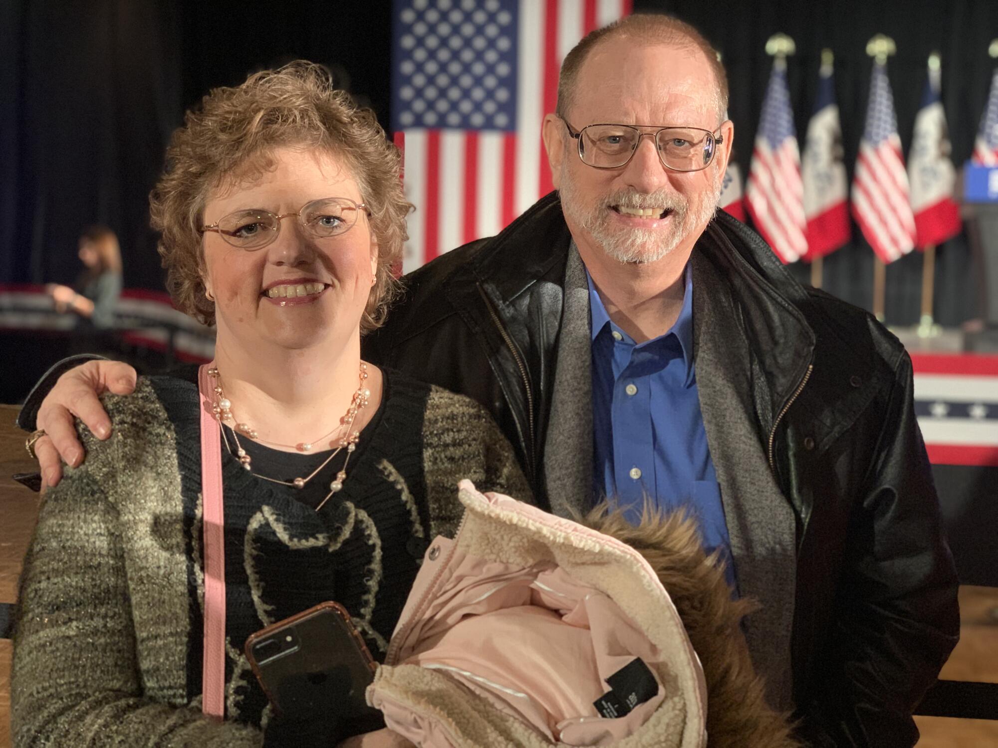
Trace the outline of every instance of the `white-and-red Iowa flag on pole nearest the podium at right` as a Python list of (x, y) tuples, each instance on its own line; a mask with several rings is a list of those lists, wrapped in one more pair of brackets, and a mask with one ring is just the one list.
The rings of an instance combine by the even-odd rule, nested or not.
[(922, 106), (915, 116), (915, 135), (908, 152), (911, 209), (915, 213), (915, 246), (924, 249), (960, 232), (960, 209), (953, 199), (956, 169), (950, 161), (946, 115), (939, 100), (939, 65), (929, 63)]

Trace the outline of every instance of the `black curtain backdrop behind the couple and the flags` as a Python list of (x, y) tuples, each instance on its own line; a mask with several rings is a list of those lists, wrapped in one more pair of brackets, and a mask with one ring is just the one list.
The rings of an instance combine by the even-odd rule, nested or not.
[[(898, 47), (889, 73), (905, 152), (925, 61), (938, 50), (953, 158), (959, 165), (970, 155), (993, 69), (994, 0), (636, 0), (635, 7), (675, 13), (724, 52), (743, 174), (770, 68), (763, 48), (777, 31), (797, 45), (789, 86), (801, 142), (820, 50), (835, 52), (850, 178), (869, 86), (865, 45), (876, 33)], [(390, 12), (387, 0), (0, 1), (0, 282), (71, 280), (81, 226), (101, 221), (121, 237), (126, 285), (162, 288), (147, 195), (184, 110), (213, 86), (302, 57), (332, 67), (386, 124)], [(825, 260), (824, 286), (868, 307), (872, 253), (854, 235)], [(947, 242), (938, 257), (936, 318), (958, 324), (976, 311), (965, 238)], [(793, 272), (807, 277), (804, 265)], [(920, 277), (917, 255), (888, 267), (888, 322), (917, 321)]]

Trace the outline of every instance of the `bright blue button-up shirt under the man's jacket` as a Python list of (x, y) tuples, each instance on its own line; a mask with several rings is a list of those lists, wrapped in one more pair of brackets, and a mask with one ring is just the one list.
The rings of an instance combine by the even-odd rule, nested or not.
[(610, 497), (632, 523), (645, 498), (687, 507), (708, 553), (720, 549), (734, 586), (728, 524), (700, 411), (693, 360), (693, 277), (665, 335), (635, 344), (615, 325), (589, 277), (593, 351), (593, 466), (597, 500)]

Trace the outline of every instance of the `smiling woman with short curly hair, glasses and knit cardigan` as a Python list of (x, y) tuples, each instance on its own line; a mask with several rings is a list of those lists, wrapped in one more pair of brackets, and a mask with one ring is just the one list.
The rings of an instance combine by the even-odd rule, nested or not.
[[(456, 527), (459, 478), (529, 490), (480, 406), (360, 359), (410, 207), (370, 112), (294, 63), (212, 92), (167, 157), (153, 224), (175, 303), (218, 328), (216, 360), (199, 385), (142, 379), (109, 398), (114, 436), (84, 434), (86, 464), (47, 494), (15, 632), (14, 744), (333, 745), (335, 719), (272, 717), (247, 636), (333, 599), (383, 657), (428, 539)], [(224, 571), (206, 582), (203, 478), (220, 451)], [(202, 711), (220, 583), (223, 722)]]

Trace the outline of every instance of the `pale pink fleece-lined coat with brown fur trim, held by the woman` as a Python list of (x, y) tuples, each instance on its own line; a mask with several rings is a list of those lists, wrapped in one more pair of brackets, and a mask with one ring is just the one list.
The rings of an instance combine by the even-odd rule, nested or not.
[(467, 481), (460, 498), (368, 689), (390, 728), (433, 748), (796, 745), (749, 662), (750, 603), (692, 522), (574, 523)]

